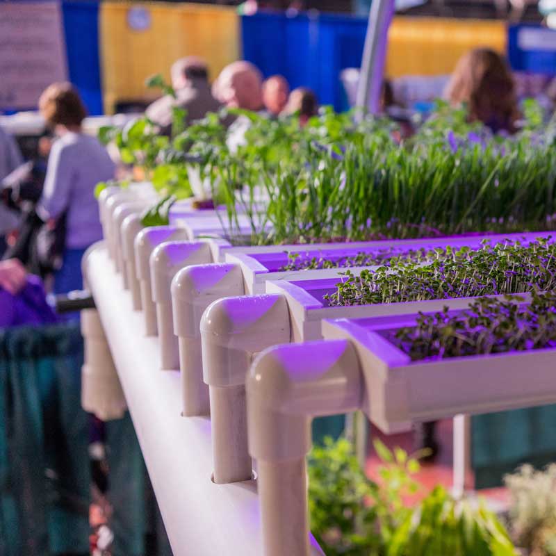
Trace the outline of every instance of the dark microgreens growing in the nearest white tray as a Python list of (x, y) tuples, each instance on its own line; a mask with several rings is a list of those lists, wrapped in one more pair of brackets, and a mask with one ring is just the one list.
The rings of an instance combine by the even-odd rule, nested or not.
[(556, 293), (516, 301), (483, 297), (466, 311), (421, 313), (416, 326), (386, 335), (413, 361), (556, 347)]

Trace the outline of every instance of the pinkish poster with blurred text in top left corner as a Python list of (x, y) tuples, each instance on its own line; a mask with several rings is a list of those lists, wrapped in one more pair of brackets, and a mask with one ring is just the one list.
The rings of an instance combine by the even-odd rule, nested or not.
[(67, 79), (60, 3), (0, 2), (0, 111), (32, 109)]

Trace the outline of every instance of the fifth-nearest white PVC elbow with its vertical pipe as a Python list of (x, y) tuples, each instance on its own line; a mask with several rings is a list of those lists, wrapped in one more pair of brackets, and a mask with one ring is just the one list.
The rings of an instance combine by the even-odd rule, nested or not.
[(177, 226), (153, 226), (141, 230), (134, 243), (137, 277), (141, 289), (141, 304), (145, 315), (145, 334), (156, 336), (156, 305), (152, 300), (150, 256), (155, 247), (165, 241), (186, 240), (187, 232)]

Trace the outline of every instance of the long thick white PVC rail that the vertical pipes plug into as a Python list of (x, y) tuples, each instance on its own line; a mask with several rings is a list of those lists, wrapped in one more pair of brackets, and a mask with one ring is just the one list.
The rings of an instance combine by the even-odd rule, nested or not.
[[(133, 418), (172, 551), (176, 555), (261, 556), (256, 482), (211, 480), (211, 422), (183, 418), (179, 371), (154, 373), (158, 338), (142, 335), (142, 318), (108, 264), (105, 245), (90, 250), (85, 277), (104, 327)], [(322, 555), (311, 539), (311, 556)], [(284, 555), (282, 555), (284, 556)]]

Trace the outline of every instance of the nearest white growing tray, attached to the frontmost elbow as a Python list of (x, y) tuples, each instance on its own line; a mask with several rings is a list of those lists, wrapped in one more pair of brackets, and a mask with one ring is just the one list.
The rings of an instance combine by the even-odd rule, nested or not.
[[(439, 304), (454, 306), (451, 301)], [(416, 318), (408, 314), (322, 322), (324, 338), (347, 338), (354, 345), (366, 382), (366, 411), (384, 432), (411, 421), (556, 402), (556, 350), (411, 361), (380, 331), (414, 325)]]

